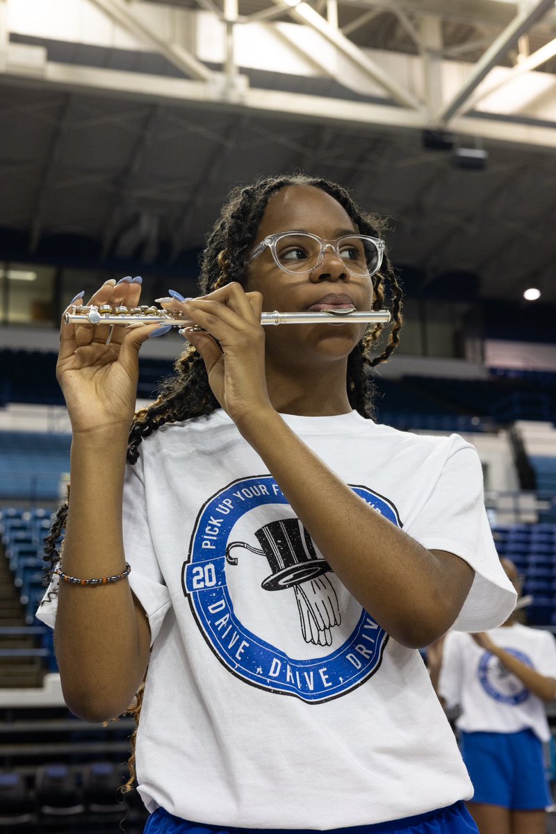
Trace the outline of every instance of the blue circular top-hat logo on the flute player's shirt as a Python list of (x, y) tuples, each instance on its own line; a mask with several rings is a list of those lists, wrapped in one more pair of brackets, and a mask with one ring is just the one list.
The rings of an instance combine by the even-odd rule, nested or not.
[[(393, 524), (395, 507), (353, 491)], [(199, 512), (183, 592), (218, 660), (252, 686), (308, 703), (360, 686), (388, 635), (341, 585), (271, 475), (218, 491)]]

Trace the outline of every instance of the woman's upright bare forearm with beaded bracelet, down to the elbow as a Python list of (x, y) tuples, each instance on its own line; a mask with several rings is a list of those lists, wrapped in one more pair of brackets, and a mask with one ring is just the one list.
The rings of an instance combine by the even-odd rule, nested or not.
[[(63, 544), (67, 575), (83, 579), (125, 568), (122, 495), (127, 430), (74, 435), (71, 499)], [(148, 662), (148, 624), (127, 579), (79, 586), (60, 581), (54, 632), (64, 696), (89, 720), (119, 715)]]

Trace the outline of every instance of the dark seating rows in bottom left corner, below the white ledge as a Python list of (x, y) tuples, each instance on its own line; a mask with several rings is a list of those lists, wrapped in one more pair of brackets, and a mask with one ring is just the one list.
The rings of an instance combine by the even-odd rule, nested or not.
[(80, 721), (65, 706), (1, 706), (0, 834), (141, 834), (143, 803), (119, 790), (133, 727)]

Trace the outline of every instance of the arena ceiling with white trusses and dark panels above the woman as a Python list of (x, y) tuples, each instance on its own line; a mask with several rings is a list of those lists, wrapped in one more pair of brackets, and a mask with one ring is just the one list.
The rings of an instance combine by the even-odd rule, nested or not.
[(409, 290), (556, 304), (555, 56), (553, 0), (0, 0), (0, 259), (169, 268), (302, 170), (391, 218)]

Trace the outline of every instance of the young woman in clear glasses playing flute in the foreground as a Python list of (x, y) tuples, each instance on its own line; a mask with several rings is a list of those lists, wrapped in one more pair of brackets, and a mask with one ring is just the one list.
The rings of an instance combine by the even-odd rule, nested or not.
[[(71, 495), (38, 615), (69, 708), (104, 721), (133, 702), (148, 834), (476, 831), (418, 648), (499, 625), (515, 593), (473, 447), (373, 421), (368, 370), (402, 324), (383, 224), (323, 179), (238, 188), (200, 287), (162, 299), (195, 327), (135, 415), (158, 326), (108, 345), (106, 325), (62, 327)], [(107, 282), (88, 304), (140, 291)], [(384, 306), (382, 352), (381, 324), (260, 324)]]

